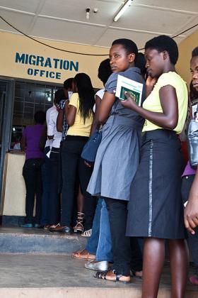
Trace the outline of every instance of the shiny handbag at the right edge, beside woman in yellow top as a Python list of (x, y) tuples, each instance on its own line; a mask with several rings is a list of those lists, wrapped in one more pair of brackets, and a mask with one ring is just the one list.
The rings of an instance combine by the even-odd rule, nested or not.
[(187, 145), (190, 165), (192, 167), (197, 167), (198, 165), (198, 104), (197, 111), (194, 111), (194, 119), (190, 121), (187, 130)]

